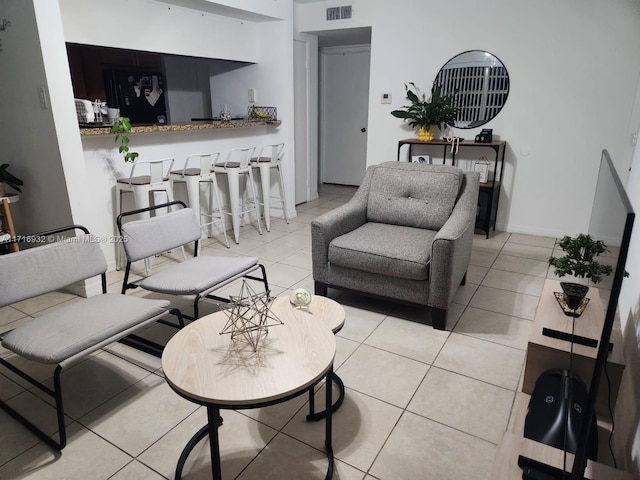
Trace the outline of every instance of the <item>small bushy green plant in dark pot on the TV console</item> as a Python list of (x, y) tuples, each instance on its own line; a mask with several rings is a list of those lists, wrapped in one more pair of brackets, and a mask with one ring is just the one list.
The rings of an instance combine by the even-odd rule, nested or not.
[[(595, 240), (591, 235), (581, 233), (575, 238), (564, 236), (558, 242), (558, 246), (566, 253), (563, 257), (549, 257), (549, 265), (555, 268), (554, 273), (559, 277), (573, 275), (576, 278), (586, 278), (594, 285), (602, 281), (602, 277), (611, 274), (613, 267), (603, 265), (595, 260), (599, 255), (608, 252), (607, 246), (602, 240)], [(567, 315), (579, 316), (576, 312), (583, 298), (587, 295), (589, 287), (575, 282), (560, 282), (565, 295), (569, 311)]]

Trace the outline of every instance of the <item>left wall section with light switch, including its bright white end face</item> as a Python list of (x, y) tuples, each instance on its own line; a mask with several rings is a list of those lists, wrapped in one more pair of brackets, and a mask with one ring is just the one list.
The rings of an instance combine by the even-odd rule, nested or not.
[[(76, 223), (96, 232), (58, 4), (7, 0), (0, 18), (11, 22), (0, 52), (3, 157), (25, 183), (12, 206), (16, 231)], [(98, 292), (99, 279), (72, 290)]]

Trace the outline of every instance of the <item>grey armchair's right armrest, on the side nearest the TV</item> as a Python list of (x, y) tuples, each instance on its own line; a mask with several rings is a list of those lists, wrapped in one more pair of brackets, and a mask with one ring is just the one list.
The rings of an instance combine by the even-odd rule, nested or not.
[(436, 234), (431, 250), (429, 306), (446, 309), (471, 259), (480, 176), (465, 172), (451, 216)]

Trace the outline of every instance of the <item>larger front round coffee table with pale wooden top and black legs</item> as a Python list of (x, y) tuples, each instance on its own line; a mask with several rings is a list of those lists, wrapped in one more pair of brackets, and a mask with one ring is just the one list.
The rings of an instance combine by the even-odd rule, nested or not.
[[(331, 404), (336, 341), (325, 322), (318, 321), (313, 308), (313, 302), (310, 313), (293, 308), (288, 301), (274, 303), (271, 311), (284, 324), (269, 327), (256, 352), (242, 338), (232, 340), (230, 334), (220, 334), (228, 320), (224, 312), (196, 320), (169, 340), (162, 354), (165, 379), (182, 397), (206, 406), (208, 419), (180, 455), (176, 478), (181, 477), (191, 450), (207, 434), (213, 478), (222, 478), (220, 409), (275, 405), (311, 391), (323, 378), (327, 382), (327, 405)], [(328, 409), (325, 416), (327, 479), (333, 476), (332, 410)]]

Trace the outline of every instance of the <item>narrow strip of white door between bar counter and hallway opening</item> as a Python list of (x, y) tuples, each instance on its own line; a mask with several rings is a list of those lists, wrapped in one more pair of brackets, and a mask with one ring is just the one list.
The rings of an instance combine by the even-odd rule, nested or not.
[(308, 60), (307, 42), (294, 40), (294, 68), (293, 68), (293, 88), (294, 88), (294, 115), (295, 125), (295, 204), (309, 200), (309, 141), (308, 141)]

